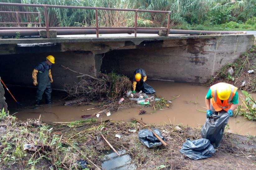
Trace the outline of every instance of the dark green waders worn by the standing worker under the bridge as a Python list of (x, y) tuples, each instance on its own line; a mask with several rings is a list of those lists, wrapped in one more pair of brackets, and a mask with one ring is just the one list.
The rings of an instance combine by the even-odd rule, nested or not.
[(37, 92), (36, 92), (36, 104), (39, 105), (42, 100), (42, 96), (45, 92), (45, 102), (46, 104), (51, 103), (51, 92), (52, 87), (49, 78), (49, 70), (45, 70), (44, 72), (38, 71), (37, 74)]

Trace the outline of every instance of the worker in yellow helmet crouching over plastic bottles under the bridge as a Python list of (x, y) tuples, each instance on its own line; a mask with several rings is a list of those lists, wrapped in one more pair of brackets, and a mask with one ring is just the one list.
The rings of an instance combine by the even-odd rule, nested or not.
[(144, 90), (143, 84), (147, 80), (147, 75), (144, 69), (136, 69), (134, 71), (134, 76), (133, 76), (133, 83), (132, 83), (132, 93), (136, 93), (135, 89), (137, 86), (138, 90)]

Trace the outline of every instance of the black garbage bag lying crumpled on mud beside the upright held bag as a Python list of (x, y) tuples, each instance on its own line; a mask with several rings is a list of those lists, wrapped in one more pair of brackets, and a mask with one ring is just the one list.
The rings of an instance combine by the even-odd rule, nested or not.
[(215, 153), (215, 149), (208, 139), (197, 139), (194, 141), (186, 139), (186, 142), (183, 143), (180, 149), (180, 153), (190, 159), (197, 160), (211, 157)]

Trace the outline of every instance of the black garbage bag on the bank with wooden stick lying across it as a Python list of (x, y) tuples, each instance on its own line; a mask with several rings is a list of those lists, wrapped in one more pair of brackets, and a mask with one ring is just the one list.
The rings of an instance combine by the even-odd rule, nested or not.
[[(163, 141), (164, 137), (161, 136), (159, 129), (152, 129)], [(139, 140), (143, 145), (147, 146), (148, 148), (154, 148), (157, 146), (162, 145), (162, 142), (154, 136), (153, 132), (149, 131), (148, 129), (142, 129), (138, 133)]]

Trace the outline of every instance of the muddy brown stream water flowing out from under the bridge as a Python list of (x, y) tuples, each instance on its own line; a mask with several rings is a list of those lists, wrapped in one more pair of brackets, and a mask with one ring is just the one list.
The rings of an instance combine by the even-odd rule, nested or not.
[[(127, 121), (130, 122), (132, 118), (143, 120), (145, 123), (151, 124), (179, 124), (183, 123), (185, 126), (200, 127), (204, 124), (206, 119), (206, 113), (197, 110), (204, 110), (205, 108), (205, 96), (209, 87), (204, 87), (201, 85), (192, 85), (189, 83), (172, 83), (172, 82), (159, 82), (159, 81), (148, 81), (148, 83), (154, 87), (157, 96), (165, 97), (170, 100), (176, 96), (179, 96), (172, 102), (172, 107), (170, 109), (158, 110), (152, 113), (151, 107), (145, 108), (143, 105), (137, 105), (136, 107), (130, 109), (122, 109), (117, 112), (111, 113), (110, 116), (106, 114), (101, 114), (99, 121), (112, 119), (114, 121)], [(15, 89), (14, 87), (12, 87)], [(19, 97), (24, 90), (19, 90), (16, 96)], [(35, 89), (33, 89), (29, 94), (23, 95), (23, 101), (32, 102), (34, 100)], [(7, 93), (6, 93), (7, 94)], [(63, 93), (62, 93), (63, 95)], [(12, 107), (9, 103), (10, 113), (16, 113), (18, 119), (26, 120), (31, 118), (41, 118), (46, 122), (69, 122), (75, 120), (81, 120), (81, 115), (90, 115), (97, 113), (97, 109), (91, 109), (96, 105), (86, 105), (77, 106), (69, 105), (64, 106), (63, 101), (59, 100), (60, 94), (58, 92), (53, 92), (53, 104), (52, 105), (42, 105), (39, 109), (32, 110), (28, 108), (17, 109)], [(256, 94), (252, 94), (254, 99)], [(244, 99), (243, 94), (239, 91), (239, 97)], [(8, 98), (8, 97), (7, 97)], [(17, 97), (16, 97), (17, 98)], [(8, 99), (7, 102), (11, 100)], [(193, 103), (198, 102), (198, 104)], [(241, 103), (241, 99), (239, 99)], [(21, 103), (21, 101), (20, 101)], [(32, 103), (31, 103), (32, 105)], [(91, 109), (91, 110), (87, 110)], [(144, 109), (147, 112), (145, 114), (138, 114), (140, 109)], [(242, 116), (231, 117), (229, 119), (230, 132), (238, 133), (241, 135), (256, 135), (256, 122), (249, 121)]]

